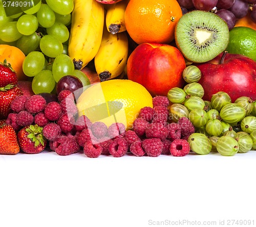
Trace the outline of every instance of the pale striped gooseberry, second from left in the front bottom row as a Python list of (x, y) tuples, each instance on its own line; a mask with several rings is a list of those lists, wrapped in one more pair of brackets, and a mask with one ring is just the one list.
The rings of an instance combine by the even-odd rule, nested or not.
[(217, 151), (224, 156), (235, 155), (239, 150), (238, 142), (229, 137), (229, 135), (223, 135), (216, 143)]

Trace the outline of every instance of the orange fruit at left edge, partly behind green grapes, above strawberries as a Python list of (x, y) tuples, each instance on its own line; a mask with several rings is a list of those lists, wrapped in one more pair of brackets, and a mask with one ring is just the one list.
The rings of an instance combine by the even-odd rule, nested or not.
[(18, 80), (28, 79), (22, 69), (25, 57), (25, 54), (18, 48), (7, 44), (0, 44), (0, 62), (4, 62), (6, 59), (7, 63), (10, 63), (12, 69), (16, 72)]

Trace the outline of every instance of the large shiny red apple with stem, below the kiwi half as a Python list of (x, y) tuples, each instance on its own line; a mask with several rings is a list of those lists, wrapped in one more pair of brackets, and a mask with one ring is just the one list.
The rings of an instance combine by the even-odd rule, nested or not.
[(221, 53), (216, 58), (196, 64), (202, 77), (199, 83), (204, 88), (204, 100), (211, 100), (217, 92), (226, 92), (232, 102), (241, 96), (256, 99), (256, 61), (239, 55)]

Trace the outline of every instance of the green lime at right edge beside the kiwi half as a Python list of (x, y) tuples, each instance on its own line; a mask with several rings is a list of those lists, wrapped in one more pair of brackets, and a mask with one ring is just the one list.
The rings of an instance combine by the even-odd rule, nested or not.
[(226, 50), (230, 54), (242, 54), (256, 61), (256, 31), (248, 27), (231, 29)]

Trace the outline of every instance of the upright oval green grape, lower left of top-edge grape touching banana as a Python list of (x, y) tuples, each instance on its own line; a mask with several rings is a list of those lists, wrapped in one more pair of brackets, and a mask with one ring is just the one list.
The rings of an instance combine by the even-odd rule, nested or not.
[(40, 9), (36, 13), (36, 17), (41, 27), (49, 28), (55, 22), (55, 14), (47, 4), (41, 4)]

